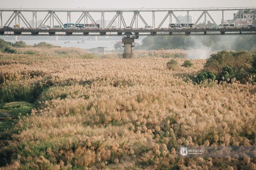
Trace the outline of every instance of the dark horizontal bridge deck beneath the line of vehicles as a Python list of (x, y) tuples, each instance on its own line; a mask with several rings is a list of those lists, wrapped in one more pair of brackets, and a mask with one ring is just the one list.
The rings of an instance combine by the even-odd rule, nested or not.
[(181, 36), (181, 35), (239, 35), (256, 34), (256, 28), (232, 29), (0, 29), (3, 36)]

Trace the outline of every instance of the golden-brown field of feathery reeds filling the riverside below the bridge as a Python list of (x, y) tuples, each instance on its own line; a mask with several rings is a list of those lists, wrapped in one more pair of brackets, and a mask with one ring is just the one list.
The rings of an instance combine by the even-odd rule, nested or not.
[[(184, 50), (134, 50), (131, 59), (78, 48), (16, 50), (0, 52), (0, 112), (30, 109), (0, 123), (11, 122), (0, 132), (0, 170), (256, 169), (254, 158), (177, 151), (255, 146), (255, 82), (195, 83), (206, 60), (182, 67)], [(175, 69), (166, 67), (171, 59)]]

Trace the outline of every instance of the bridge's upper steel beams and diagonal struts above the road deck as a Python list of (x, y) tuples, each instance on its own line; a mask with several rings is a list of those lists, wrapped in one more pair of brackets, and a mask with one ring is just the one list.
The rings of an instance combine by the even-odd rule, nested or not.
[[(109, 25), (106, 28), (110, 28), (113, 24), (114, 21), (116, 21), (117, 17), (119, 17), (118, 22), (119, 22), (119, 26), (121, 27), (126, 27), (126, 20), (123, 17), (123, 14), (126, 12), (133, 12), (133, 17), (131, 18), (131, 23), (130, 23), (130, 27), (133, 26), (133, 24), (135, 23), (135, 27), (138, 27), (138, 17), (141, 19), (142, 23), (145, 25), (148, 25), (148, 21), (146, 21), (143, 17), (142, 17), (142, 12), (152, 12), (152, 26), (155, 27), (155, 15), (157, 12), (167, 12), (167, 14), (164, 16), (163, 19), (158, 17), (158, 21), (161, 21), (159, 23), (159, 27), (161, 27), (164, 22), (166, 21), (167, 17), (170, 16), (170, 18), (173, 16), (176, 21), (178, 23), (180, 23), (180, 21), (177, 19), (175, 12), (187, 12), (187, 17), (189, 17), (189, 12), (200, 12), (202, 11), (202, 14), (200, 15), (200, 17), (197, 19), (197, 21), (195, 22), (195, 24), (197, 24), (199, 22), (199, 20), (202, 18), (202, 16), (204, 15), (204, 23), (206, 25), (206, 16), (208, 15), (208, 17), (210, 18), (211, 21), (213, 21), (213, 23), (217, 26), (216, 22), (213, 20), (213, 18), (210, 15), (210, 11), (220, 11), (222, 12), (222, 24), (223, 24), (223, 13), (224, 11), (239, 11), (238, 13), (241, 15), (244, 15), (246, 17), (246, 19), (248, 20), (248, 22), (250, 24), (253, 24), (252, 19), (248, 18), (245, 13), (244, 10), (256, 10), (256, 7), (232, 7), (232, 8), (193, 8), (193, 9), (0, 9), (0, 19), (1, 19), (1, 27), (3, 26), (9, 26), (10, 24), (12, 24), (12, 22), (14, 22), (15, 19), (15, 23), (17, 22), (17, 18), (21, 19), (24, 24), (26, 25), (26, 27), (40, 27), (42, 24), (45, 24), (47, 21), (49, 21), (50, 19), (50, 25), (54, 25), (54, 21), (57, 21), (59, 23), (59, 25), (64, 26), (63, 19), (60, 19), (62, 17), (60, 17), (62, 15), (62, 13), (64, 14), (65, 12), (67, 13), (67, 23), (72, 23), (71, 22), (71, 13), (73, 12), (80, 12), (82, 13), (78, 18), (73, 18), (74, 21), (76, 21), (75, 23), (79, 23), (81, 22), (81, 20), (84, 18), (86, 18), (86, 22), (87, 22), (87, 18), (90, 19), (90, 21), (92, 23), (95, 23), (95, 20), (93, 19), (93, 15), (92, 13), (97, 13), (100, 12), (101, 13), (101, 26), (103, 28), (105, 28), (105, 17), (104, 14), (106, 12), (115, 12), (116, 14), (114, 15), (114, 17), (112, 18), (111, 22), (109, 23)], [(11, 15), (8, 16), (7, 12), (12, 12)], [(34, 26), (34, 22), (33, 25), (31, 26), (29, 24), (29, 17), (24, 17), (24, 15), (22, 13), (24, 12), (32, 12), (33, 13), (33, 21), (34, 18), (36, 18), (36, 14), (38, 12), (48, 12), (47, 15), (45, 16), (45, 18), (43, 19), (43, 21), (40, 23), (39, 26)], [(56, 12), (58, 12), (59, 16), (56, 14)], [(239, 14), (237, 13), (237, 15), (235, 15), (235, 17), (237, 17)], [(3, 18), (8, 18), (9, 19), (6, 21), (3, 21)], [(233, 16), (232, 16), (233, 17)], [(232, 22), (234, 22), (235, 17), (233, 17)], [(129, 18), (127, 19), (129, 20)], [(189, 21), (189, 18), (187, 18), (187, 22)], [(4, 22), (4, 23), (3, 23)], [(171, 22), (171, 19), (170, 19)]]

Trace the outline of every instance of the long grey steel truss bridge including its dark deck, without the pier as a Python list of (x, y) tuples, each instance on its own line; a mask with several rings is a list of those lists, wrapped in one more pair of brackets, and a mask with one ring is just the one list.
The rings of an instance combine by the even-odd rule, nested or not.
[[(241, 35), (241, 34), (256, 34), (256, 29), (251, 28), (230, 28), (230, 29), (208, 29), (206, 28), (206, 17), (208, 16), (215, 26), (218, 26), (216, 22), (213, 20), (213, 17), (209, 14), (209, 12), (215, 11), (219, 12), (222, 15), (222, 23), (224, 24), (224, 12), (227, 11), (235, 11), (236, 14), (233, 17), (230, 24), (234, 22), (237, 18), (240, 18), (240, 23), (242, 22), (242, 16), (246, 17), (247, 21), (250, 24), (253, 24), (252, 18), (247, 17), (244, 11), (248, 10), (256, 10), (256, 7), (231, 7), (231, 8), (193, 8), (193, 9), (0, 9), (0, 20), (1, 20), (1, 29), (0, 35), (38, 35), (38, 36), (133, 36), (134, 38), (138, 38), (138, 36), (166, 36), (166, 35)], [(138, 28), (138, 20), (140, 19), (145, 26), (151, 25), (148, 24), (149, 21), (146, 21), (144, 17), (142, 17), (145, 12), (152, 12), (152, 26), (154, 29), (144, 29)], [(157, 17), (157, 22), (159, 23), (156, 26), (156, 15), (159, 12), (165, 12), (166, 15), (163, 18)], [(168, 29), (163, 28), (162, 25), (166, 21), (168, 17), (174, 17), (178, 24), (181, 22), (176, 17), (177, 12), (185, 12), (187, 14), (187, 24), (189, 23), (189, 13), (190, 12), (200, 12), (201, 15), (195, 21), (194, 25), (196, 25), (200, 19), (204, 16), (204, 27), (194, 29)], [(79, 17), (72, 18), (71, 22), (71, 14), (76, 13)], [(101, 28), (99, 29), (74, 29), (74, 27), (69, 27), (67, 29), (46, 29), (42, 30), (40, 27), (44, 25), (47, 21), (50, 21), (50, 27), (54, 26), (57, 22), (60, 26), (64, 27), (64, 23), (74, 23), (80, 24), (82, 21), (86, 24), (88, 23), (88, 19), (91, 23), (96, 23), (94, 14), (101, 15)], [(107, 26), (105, 26), (105, 14), (114, 14), (111, 22)], [(133, 14), (132, 18), (124, 18), (125, 13)], [(24, 15), (23, 15), (24, 14)], [(26, 14), (26, 15), (25, 15)], [(27, 17), (27, 15), (30, 17)], [(28, 21), (32, 19), (32, 21), (37, 21), (38, 14), (46, 14), (42, 22), (38, 25), (37, 22), (33, 22), (33, 24), (29, 24)], [(26, 16), (26, 17), (24, 17)], [(4, 18), (9, 18), (6, 22), (3, 22)], [(61, 20), (60, 18), (66, 17), (66, 21)], [(231, 18), (231, 17), (230, 17)], [(118, 21), (118, 28), (113, 28), (112, 24)], [(131, 21), (130, 24), (127, 24), (127, 21)], [(8, 28), (6, 26), (12, 26), (19, 24), (21, 22), (26, 25), (26, 27), (15, 27)], [(151, 22), (151, 21), (150, 21)], [(229, 24), (229, 26), (230, 26)], [(241, 25), (241, 24), (240, 24)], [(129, 27), (129, 28), (127, 28)], [(162, 27), (162, 28), (161, 28)]]

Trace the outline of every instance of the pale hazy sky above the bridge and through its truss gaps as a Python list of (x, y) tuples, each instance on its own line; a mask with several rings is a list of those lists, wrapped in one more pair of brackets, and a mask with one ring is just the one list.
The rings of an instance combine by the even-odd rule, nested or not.
[[(173, 8), (217, 8), (217, 7), (256, 7), (255, 0), (0, 0), (1, 8), (19, 8), (19, 9), (173, 9)], [(232, 19), (232, 14), (237, 11), (227, 12), (224, 14), (224, 19)], [(196, 15), (197, 18), (202, 12), (190, 13)], [(209, 12), (210, 13), (210, 12)], [(24, 14), (32, 15), (32, 14)], [(43, 19), (46, 14), (39, 16), (38, 19)], [(78, 15), (78, 14), (77, 14)], [(152, 14), (143, 14), (147, 22), (152, 23)], [(166, 13), (156, 14), (156, 26), (162, 21)], [(175, 15), (186, 15), (185, 13), (177, 13)], [(221, 12), (211, 13), (216, 24), (220, 24)], [(132, 16), (132, 15), (131, 15)], [(3, 12), (3, 22), (7, 21), (10, 14)], [(66, 17), (66, 14), (65, 14)], [(74, 20), (76, 15), (73, 14)], [(78, 15), (79, 17), (79, 15)], [(93, 19), (100, 19), (100, 14), (92, 16)], [(112, 19), (114, 14), (105, 16), (105, 19)], [(129, 16), (130, 17), (130, 16)], [(125, 17), (129, 18), (128, 16)], [(61, 18), (64, 18), (64, 16)], [(32, 17), (31, 17), (32, 19)], [(29, 20), (29, 19), (28, 19)], [(66, 19), (65, 19), (66, 20)], [(128, 19), (129, 20), (129, 19)], [(130, 19), (131, 20), (131, 19)], [(168, 19), (167, 19), (168, 20)], [(173, 18), (174, 20), (174, 18)], [(209, 17), (207, 20), (210, 20)], [(175, 20), (174, 20), (175, 21)], [(75, 21), (72, 21), (75, 22)], [(129, 21), (128, 21), (129, 22)], [(173, 22), (174, 23), (174, 22)], [(166, 24), (165, 24), (166, 25)]]

